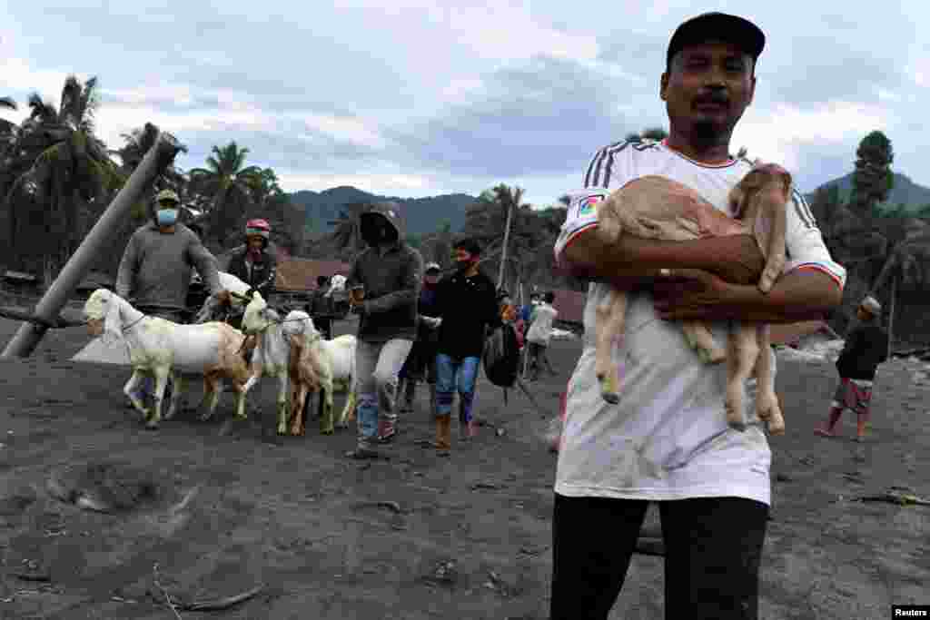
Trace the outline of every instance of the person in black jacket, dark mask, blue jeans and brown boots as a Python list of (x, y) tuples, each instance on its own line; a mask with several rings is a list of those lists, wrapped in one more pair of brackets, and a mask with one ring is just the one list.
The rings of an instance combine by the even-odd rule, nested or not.
[(472, 239), (453, 246), (456, 272), (436, 291), (439, 344), (436, 348), (436, 442), (439, 455), (451, 449), (451, 414), (458, 391), (459, 438), (475, 435), (472, 420), (474, 386), (488, 327), (500, 324), (494, 283), (478, 270), (481, 247)]

